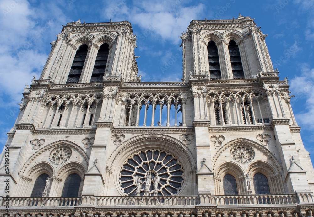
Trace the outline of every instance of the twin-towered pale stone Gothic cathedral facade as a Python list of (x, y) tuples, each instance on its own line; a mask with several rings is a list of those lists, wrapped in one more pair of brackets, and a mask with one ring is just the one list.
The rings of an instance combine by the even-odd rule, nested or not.
[(3, 217), (313, 216), (314, 170), (253, 19), (192, 20), (181, 82), (141, 82), (127, 21), (68, 23), (1, 158)]

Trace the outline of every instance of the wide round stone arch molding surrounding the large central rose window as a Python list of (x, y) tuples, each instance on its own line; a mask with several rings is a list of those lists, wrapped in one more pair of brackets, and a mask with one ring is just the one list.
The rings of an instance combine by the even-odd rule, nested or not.
[[(134, 136), (117, 146), (109, 156), (106, 164), (106, 170), (109, 172), (112, 171), (116, 189), (121, 195), (123, 195), (123, 192), (119, 186), (118, 179), (123, 163), (129, 156), (146, 149), (164, 150), (180, 159), (183, 170), (185, 170), (185, 180), (189, 180), (189, 172), (196, 168), (196, 159), (192, 152), (185, 144), (176, 138), (163, 134), (144, 134)], [(184, 191), (187, 183), (187, 181), (183, 183), (178, 195)]]

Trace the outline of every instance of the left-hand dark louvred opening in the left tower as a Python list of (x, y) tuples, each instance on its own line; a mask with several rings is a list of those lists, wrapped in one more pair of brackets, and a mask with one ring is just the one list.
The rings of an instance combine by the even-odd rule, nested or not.
[(76, 51), (72, 67), (69, 73), (67, 84), (78, 83), (81, 77), (84, 62), (86, 59), (88, 47), (87, 45), (81, 45)]

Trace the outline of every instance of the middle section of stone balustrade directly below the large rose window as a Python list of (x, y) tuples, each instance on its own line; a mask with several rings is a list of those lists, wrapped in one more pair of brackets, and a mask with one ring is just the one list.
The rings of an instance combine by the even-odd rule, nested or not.
[(81, 205), (93, 206), (195, 206), (198, 204), (198, 196), (83, 196), (81, 203)]

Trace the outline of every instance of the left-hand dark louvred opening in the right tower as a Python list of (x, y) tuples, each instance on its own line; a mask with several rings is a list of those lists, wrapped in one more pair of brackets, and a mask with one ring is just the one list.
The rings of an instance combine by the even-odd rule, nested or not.
[(218, 49), (214, 41), (208, 42), (207, 53), (210, 79), (221, 79)]

